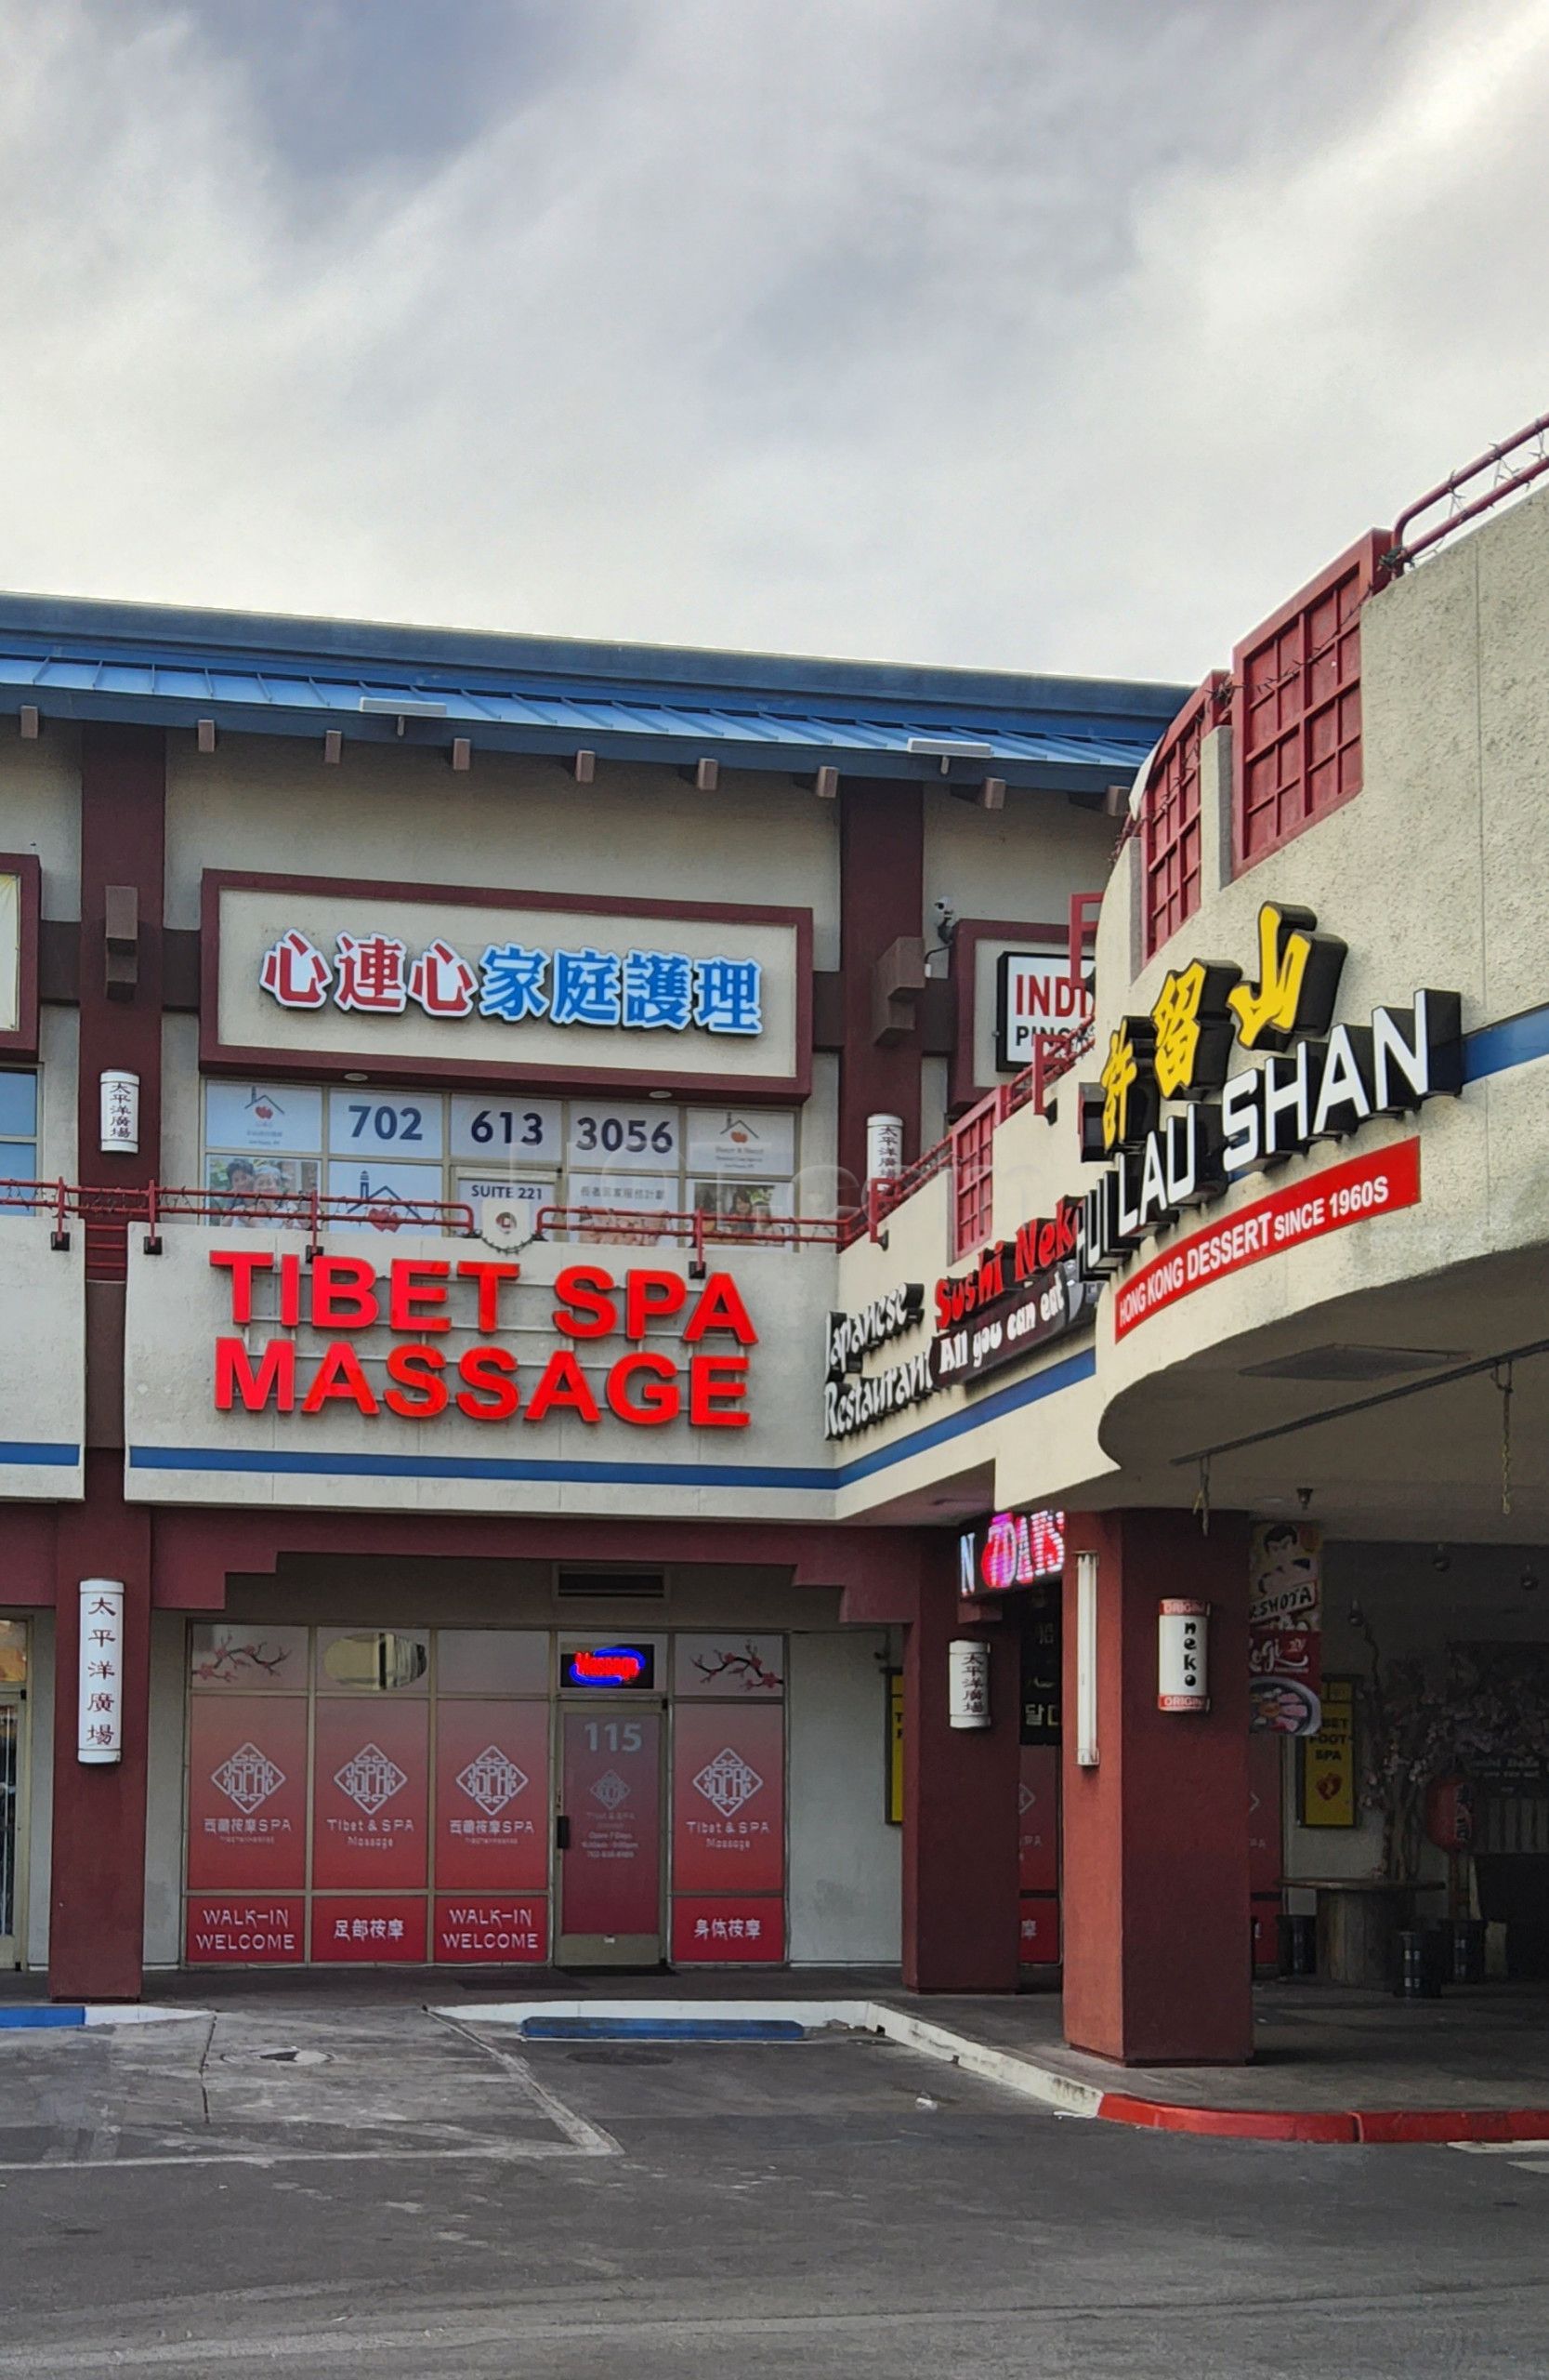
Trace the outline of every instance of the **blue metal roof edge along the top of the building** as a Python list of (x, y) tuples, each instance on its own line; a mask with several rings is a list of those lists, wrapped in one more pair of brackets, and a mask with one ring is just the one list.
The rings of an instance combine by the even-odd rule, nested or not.
[[(0, 714), (1097, 793), (1187, 688), (0, 595)], [(402, 700), (407, 714), (393, 712)], [(366, 707), (369, 704), (369, 707)], [(419, 709), (419, 716), (414, 716)], [(426, 709), (431, 716), (426, 716)], [(914, 740), (966, 743), (952, 757)]]

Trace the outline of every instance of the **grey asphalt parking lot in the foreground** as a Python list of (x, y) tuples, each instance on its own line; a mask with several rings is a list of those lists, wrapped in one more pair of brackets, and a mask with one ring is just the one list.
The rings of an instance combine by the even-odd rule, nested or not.
[(1537, 2375), (1549, 2163), (1064, 2121), (857, 2037), (0, 2035), (0, 2375)]

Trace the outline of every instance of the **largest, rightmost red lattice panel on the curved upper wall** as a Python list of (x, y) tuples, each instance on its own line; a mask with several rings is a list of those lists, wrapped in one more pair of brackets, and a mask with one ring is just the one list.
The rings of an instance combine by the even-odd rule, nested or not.
[(1390, 545), (1368, 531), (1233, 654), (1240, 869), (1361, 790), (1361, 605)]

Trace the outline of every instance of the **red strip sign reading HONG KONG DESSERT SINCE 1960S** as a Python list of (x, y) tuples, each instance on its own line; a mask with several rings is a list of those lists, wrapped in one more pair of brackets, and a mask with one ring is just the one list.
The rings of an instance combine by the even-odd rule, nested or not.
[(1368, 1223), (1373, 1214), (1392, 1214), (1394, 1207), (1418, 1207), (1418, 1140), (1399, 1140), (1392, 1150), (1352, 1157), (1309, 1180), (1273, 1190), (1142, 1264), (1114, 1299), (1114, 1338), (1125, 1338), (1152, 1314), (1192, 1297), (1225, 1273), (1240, 1273), (1287, 1247), (1304, 1247), (1306, 1240), (1321, 1240), (1330, 1230), (1347, 1230), (1349, 1223)]

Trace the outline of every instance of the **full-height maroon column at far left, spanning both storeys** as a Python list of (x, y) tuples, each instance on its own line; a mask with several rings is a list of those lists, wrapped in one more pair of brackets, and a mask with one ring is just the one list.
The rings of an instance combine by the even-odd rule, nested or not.
[[(81, 731), (81, 1038), (76, 1178), (143, 1188), (162, 1171), (162, 912), (167, 738)], [(109, 904), (109, 888), (119, 888)], [(133, 892), (126, 904), (124, 890)], [(109, 981), (109, 907), (114, 966)], [(100, 1076), (140, 1078), (138, 1154), (105, 1154)], [(81, 1226), (83, 1228), (83, 1226)], [(145, 1942), (150, 1509), (124, 1502), (124, 1226), (86, 1228), (86, 1499), (59, 1507), (55, 1823), (48, 1987), (55, 1999), (138, 1999)], [(83, 1578), (124, 1580), (124, 1756), (76, 1759)]]

